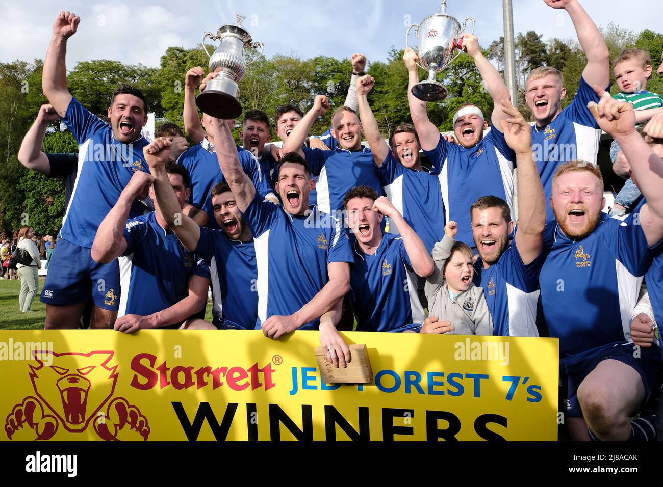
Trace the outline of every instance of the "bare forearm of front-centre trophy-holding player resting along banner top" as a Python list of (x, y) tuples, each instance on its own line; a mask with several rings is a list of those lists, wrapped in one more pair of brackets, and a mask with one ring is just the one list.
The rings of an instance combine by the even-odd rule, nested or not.
[[(289, 138), (288, 138), (289, 140)], [(329, 281), (316, 296), (289, 316), (273, 315), (263, 323), (266, 337), (278, 340), (279, 337), (295, 331), (299, 327), (318, 319), (330, 311), (339, 299), (350, 290), (350, 266), (347, 262), (327, 264)]]

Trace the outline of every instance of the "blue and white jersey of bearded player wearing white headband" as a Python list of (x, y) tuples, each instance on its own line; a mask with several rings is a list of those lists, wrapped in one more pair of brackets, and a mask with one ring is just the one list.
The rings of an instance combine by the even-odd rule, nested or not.
[[(489, 133), (471, 148), (452, 144), (440, 136), (436, 148), (424, 150), (424, 153), (439, 174), (446, 211), (445, 221), (458, 222), (456, 240), (469, 245), (476, 254), (469, 208), (477, 199), (488, 195), (501, 197), (509, 205), (511, 219), (515, 221), (514, 152), (507, 144), (504, 134), (493, 126)], [(444, 231), (442, 233), (444, 234)]]

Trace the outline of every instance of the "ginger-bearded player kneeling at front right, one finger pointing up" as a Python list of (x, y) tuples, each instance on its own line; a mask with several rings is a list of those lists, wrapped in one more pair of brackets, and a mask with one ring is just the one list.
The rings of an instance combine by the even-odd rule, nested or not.
[[(629, 330), (642, 278), (663, 240), (663, 162), (634, 127), (633, 105), (595, 85), (598, 126), (614, 136), (631, 163), (646, 203), (637, 213), (609, 217), (595, 166), (567, 162), (552, 180), (556, 223), (540, 273), (541, 301), (551, 337), (560, 339), (560, 383), (574, 439), (647, 439), (631, 420), (660, 373), (660, 353), (634, 349)], [(616, 386), (619, 384), (619, 386)], [(564, 410), (564, 409), (563, 409)], [(649, 433), (649, 434), (648, 434)]]

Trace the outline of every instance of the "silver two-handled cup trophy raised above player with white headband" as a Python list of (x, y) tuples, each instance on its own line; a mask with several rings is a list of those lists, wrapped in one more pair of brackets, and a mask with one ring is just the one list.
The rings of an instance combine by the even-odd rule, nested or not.
[(412, 94), (418, 99), (440, 101), (447, 97), (447, 89), (442, 83), (435, 80), (435, 75), (449, 66), (461, 54), (462, 51), (459, 51), (453, 56), (453, 50), (461, 47), (458, 37), (465, 31), (467, 21), (472, 21), (471, 33), (474, 33), (474, 19), (467, 17), (461, 28), (455, 17), (447, 15), (447, 1), (442, 0), (439, 13), (429, 15), (418, 25), (412, 24), (408, 27), (405, 32), (405, 46), (410, 47), (408, 46), (410, 29), (416, 27), (414, 35), (419, 39), (419, 47), (416, 51), (421, 62), (421, 64), (417, 63), (417, 66), (428, 71), (428, 80), (420, 81), (412, 87)]

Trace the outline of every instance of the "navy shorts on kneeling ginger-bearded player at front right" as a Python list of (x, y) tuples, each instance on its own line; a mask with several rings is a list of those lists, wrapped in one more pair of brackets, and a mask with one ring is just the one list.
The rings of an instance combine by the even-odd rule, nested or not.
[(569, 417), (582, 417), (582, 410), (577, 400), (577, 390), (585, 377), (603, 360), (619, 360), (623, 364), (633, 367), (644, 386), (644, 401), (660, 374), (661, 356), (658, 347), (640, 349), (640, 356), (633, 356), (633, 343), (629, 345), (615, 345), (606, 349), (599, 349), (589, 353), (581, 362), (564, 366), (560, 364), (560, 411)]

